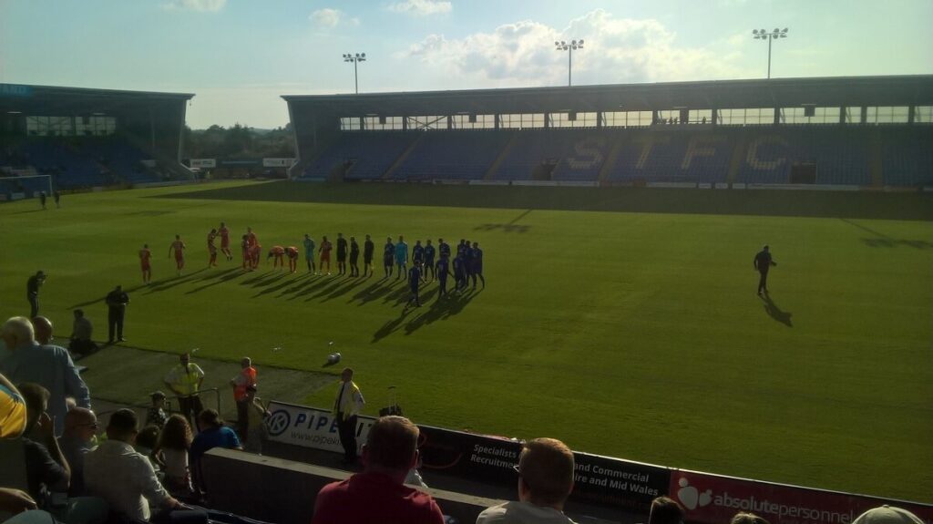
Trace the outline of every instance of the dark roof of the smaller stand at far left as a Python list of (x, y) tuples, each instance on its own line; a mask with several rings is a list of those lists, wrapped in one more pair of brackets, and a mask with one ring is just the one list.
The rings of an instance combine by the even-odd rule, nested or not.
[(107, 114), (138, 110), (146, 105), (184, 102), (193, 96), (191, 93), (0, 84), (0, 112), (46, 116), (74, 113)]

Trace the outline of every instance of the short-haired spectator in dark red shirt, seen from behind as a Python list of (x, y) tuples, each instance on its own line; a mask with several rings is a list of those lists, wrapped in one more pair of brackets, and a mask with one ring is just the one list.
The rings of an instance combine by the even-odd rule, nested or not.
[(418, 462), (418, 433), (404, 417), (373, 422), (363, 446), (363, 473), (322, 488), (312, 524), (442, 524), (438, 503), (404, 484)]

